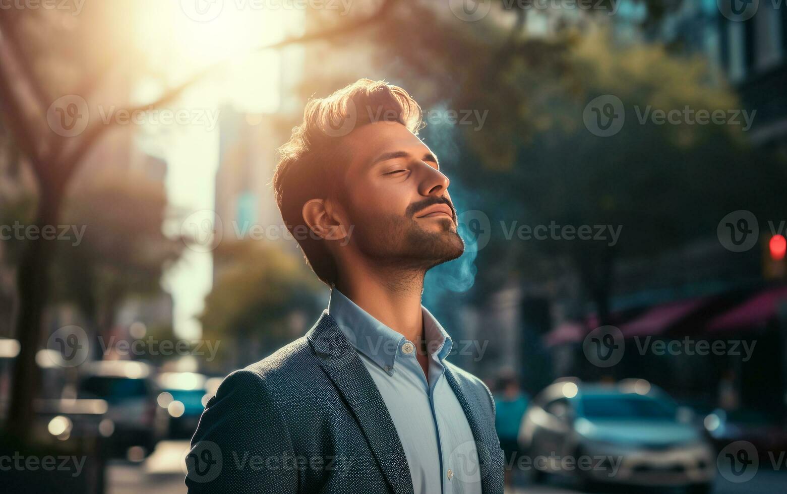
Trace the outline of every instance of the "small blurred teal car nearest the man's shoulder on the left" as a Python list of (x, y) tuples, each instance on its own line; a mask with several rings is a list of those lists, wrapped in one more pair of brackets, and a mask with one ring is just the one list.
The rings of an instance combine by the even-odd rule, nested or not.
[(167, 411), (169, 437), (190, 438), (197, 429), (209, 396), (205, 389), (207, 378), (194, 372), (163, 372), (157, 383), (159, 407)]

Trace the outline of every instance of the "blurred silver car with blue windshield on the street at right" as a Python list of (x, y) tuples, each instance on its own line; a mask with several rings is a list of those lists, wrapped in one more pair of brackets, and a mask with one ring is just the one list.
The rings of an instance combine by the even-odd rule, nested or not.
[(519, 442), (534, 479), (585, 484), (680, 486), (711, 492), (715, 454), (703, 431), (648, 382), (555, 382), (536, 396)]

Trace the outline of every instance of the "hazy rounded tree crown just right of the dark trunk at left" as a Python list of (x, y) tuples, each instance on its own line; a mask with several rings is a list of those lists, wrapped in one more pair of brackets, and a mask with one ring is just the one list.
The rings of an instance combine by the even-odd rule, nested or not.
[(94, 179), (74, 190), (65, 208), (66, 223), (83, 229), (83, 238), (61, 243), (53, 295), (75, 302), (99, 336), (111, 329), (125, 297), (161, 291), (162, 273), (184, 246), (162, 232), (163, 184), (135, 175)]

